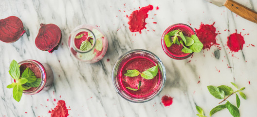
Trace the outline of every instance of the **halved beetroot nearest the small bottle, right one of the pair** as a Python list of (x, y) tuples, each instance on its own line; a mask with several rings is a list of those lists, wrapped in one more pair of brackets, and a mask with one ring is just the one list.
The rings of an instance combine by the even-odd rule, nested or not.
[(52, 53), (61, 43), (61, 30), (55, 24), (40, 24), (40, 29), (35, 40), (38, 49)]

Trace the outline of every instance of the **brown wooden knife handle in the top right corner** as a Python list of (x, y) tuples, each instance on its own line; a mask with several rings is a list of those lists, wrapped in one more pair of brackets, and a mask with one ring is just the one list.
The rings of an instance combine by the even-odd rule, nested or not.
[(249, 9), (234, 0), (227, 0), (224, 6), (242, 18), (257, 23), (257, 12), (252, 9)]

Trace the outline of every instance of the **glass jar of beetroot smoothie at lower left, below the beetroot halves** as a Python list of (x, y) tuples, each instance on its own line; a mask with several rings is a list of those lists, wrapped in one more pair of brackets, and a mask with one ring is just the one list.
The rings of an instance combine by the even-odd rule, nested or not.
[[(26, 68), (30, 68), (37, 78), (41, 78), (41, 82), (38, 87), (31, 87), (28, 90), (23, 91), (25, 95), (34, 95), (37, 93), (43, 93), (47, 91), (53, 84), (54, 74), (52, 69), (48, 64), (41, 64), (37, 60), (23, 60), (18, 63), (20, 66), (20, 75)], [(15, 79), (12, 78), (12, 82), (15, 82)]]

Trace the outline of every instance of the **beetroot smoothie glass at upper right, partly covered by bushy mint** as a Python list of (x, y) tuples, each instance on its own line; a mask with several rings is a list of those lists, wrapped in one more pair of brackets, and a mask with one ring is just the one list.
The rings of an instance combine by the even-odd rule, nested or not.
[[(178, 24), (173, 24), (171, 26), (169, 26), (165, 32), (163, 33), (163, 36), (162, 36), (162, 47), (163, 47), (163, 50), (164, 52), (166, 53), (167, 56), (169, 56), (170, 58), (172, 59), (186, 59), (190, 56), (193, 55), (193, 52), (192, 53), (184, 53), (182, 52), (181, 50), (183, 49), (183, 45), (180, 44), (172, 44), (170, 47), (167, 47), (165, 45), (165, 41), (164, 41), (164, 37), (167, 33), (173, 31), (173, 30), (182, 30), (184, 36), (187, 36), (187, 37), (191, 37), (192, 35), (196, 35), (194, 29), (192, 29), (190, 26), (186, 25), (186, 24), (183, 24), (183, 23), (178, 23)], [(178, 40), (180, 41), (181, 38), (178, 37)]]

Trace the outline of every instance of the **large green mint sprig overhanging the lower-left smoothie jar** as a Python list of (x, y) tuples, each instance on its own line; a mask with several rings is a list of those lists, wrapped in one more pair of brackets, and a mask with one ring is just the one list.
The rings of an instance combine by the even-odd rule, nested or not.
[[(41, 78), (36, 78), (34, 72), (30, 68), (26, 68), (20, 77), (19, 65), (15, 60), (12, 60), (10, 64), (9, 74), (12, 78), (15, 79), (16, 82), (7, 85), (7, 88), (13, 88), (13, 98), (18, 102), (20, 101), (22, 92), (32, 87), (28, 86), (28, 83), (35, 83), (39, 80), (41, 82)], [(34, 87), (38, 87), (39, 84), (37, 83), (36, 85), (34, 85)]]

